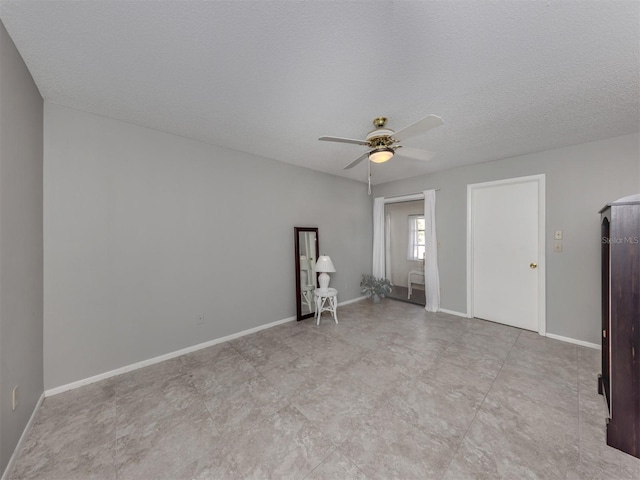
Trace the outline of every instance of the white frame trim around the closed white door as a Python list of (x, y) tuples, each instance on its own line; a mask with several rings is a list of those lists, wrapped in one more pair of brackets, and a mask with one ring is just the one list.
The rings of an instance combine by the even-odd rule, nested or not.
[(538, 184), (538, 333), (545, 335), (547, 331), (546, 317), (546, 247), (545, 247), (545, 175), (508, 178), (493, 182), (473, 183), (467, 185), (467, 316), (473, 317), (473, 190), (498, 185), (509, 185), (525, 182)]

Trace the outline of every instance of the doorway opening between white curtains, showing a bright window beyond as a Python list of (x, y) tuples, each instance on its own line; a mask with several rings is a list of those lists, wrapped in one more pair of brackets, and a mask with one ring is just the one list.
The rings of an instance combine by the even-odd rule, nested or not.
[(393, 289), (388, 298), (425, 305), (424, 200), (387, 203), (385, 270)]

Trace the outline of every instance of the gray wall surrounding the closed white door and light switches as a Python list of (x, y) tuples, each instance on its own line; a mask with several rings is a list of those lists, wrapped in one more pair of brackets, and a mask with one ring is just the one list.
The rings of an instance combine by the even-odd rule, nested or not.
[[(600, 227), (607, 202), (640, 191), (638, 134), (456, 168), (374, 187), (374, 197), (440, 188), (442, 308), (466, 313), (467, 184), (546, 174), (547, 332), (600, 343)], [(562, 253), (553, 232), (564, 231)]]

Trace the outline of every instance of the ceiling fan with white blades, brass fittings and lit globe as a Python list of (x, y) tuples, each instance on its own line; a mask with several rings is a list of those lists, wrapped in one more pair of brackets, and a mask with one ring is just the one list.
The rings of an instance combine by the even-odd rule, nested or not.
[(429, 115), (422, 120), (418, 120), (417, 122), (398, 130), (397, 132), (394, 132), (390, 128), (386, 128), (386, 123), (386, 117), (375, 118), (373, 120), (373, 125), (376, 128), (370, 131), (364, 140), (342, 137), (320, 137), (318, 140), (323, 140), (325, 142), (354, 143), (356, 145), (365, 145), (369, 148), (368, 152), (360, 155), (353, 162), (344, 167), (344, 170), (349, 170), (350, 168), (355, 167), (365, 158), (369, 158), (369, 160), (374, 163), (384, 163), (391, 160), (391, 157), (393, 157), (396, 150), (399, 148), (402, 148), (402, 151), (398, 154), (403, 157), (414, 158), (422, 161), (430, 160), (433, 157), (433, 152), (420, 150), (418, 148), (405, 147), (403, 145), (398, 145), (398, 143), (409, 137), (431, 130), (432, 128), (439, 127), (444, 123), (440, 117), (436, 115)]

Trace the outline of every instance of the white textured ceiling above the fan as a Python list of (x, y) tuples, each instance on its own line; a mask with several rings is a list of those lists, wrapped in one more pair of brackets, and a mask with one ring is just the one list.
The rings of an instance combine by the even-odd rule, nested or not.
[[(640, 131), (640, 2), (16, 1), (0, 19), (45, 100), (367, 179), (364, 138), (445, 125), (383, 183)], [(400, 151), (398, 152), (400, 153)]]

